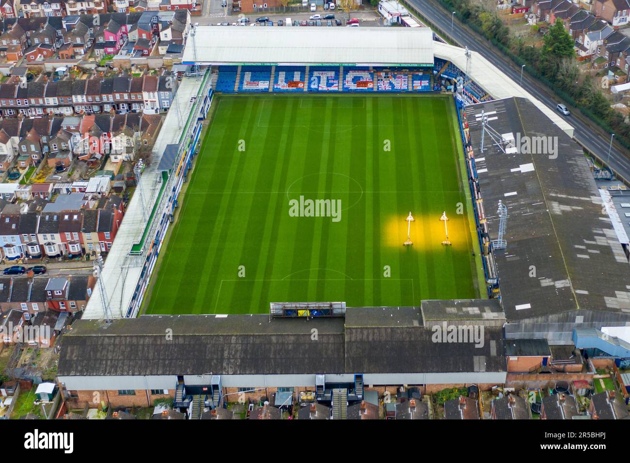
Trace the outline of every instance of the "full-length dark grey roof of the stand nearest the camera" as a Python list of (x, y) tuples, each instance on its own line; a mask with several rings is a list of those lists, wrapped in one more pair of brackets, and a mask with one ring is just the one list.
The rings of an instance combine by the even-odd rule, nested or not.
[[(347, 309), (348, 319), (366, 309), (356, 310)], [(264, 314), (83, 319), (62, 339), (59, 375), (505, 372), (501, 328), (486, 327), (480, 347), (436, 343), (421, 324), (388, 326), (389, 314), (373, 310), (364, 326), (345, 327), (341, 317)]]

